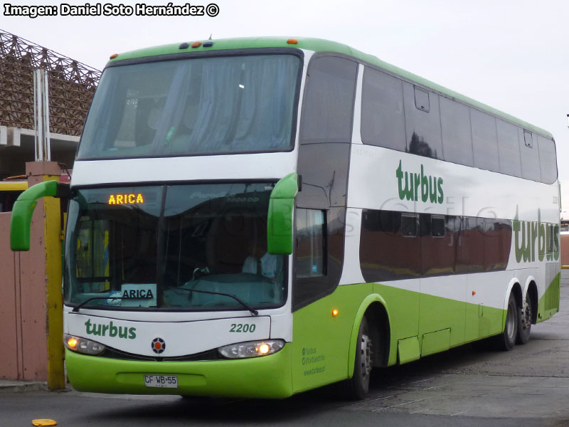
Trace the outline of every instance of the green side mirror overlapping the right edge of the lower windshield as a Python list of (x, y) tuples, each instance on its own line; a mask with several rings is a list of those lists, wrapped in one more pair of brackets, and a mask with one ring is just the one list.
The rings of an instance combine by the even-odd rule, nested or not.
[(267, 251), (274, 255), (292, 253), (292, 213), (298, 193), (298, 175), (288, 174), (277, 182), (269, 199)]

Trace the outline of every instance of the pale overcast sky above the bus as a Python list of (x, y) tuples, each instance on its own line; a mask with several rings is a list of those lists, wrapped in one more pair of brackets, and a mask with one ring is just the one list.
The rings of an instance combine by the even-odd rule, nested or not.
[(14, 0), (2, 4), (0, 28), (100, 70), (115, 52), (210, 34), (214, 39), (309, 36), (346, 43), (553, 133), (569, 210), (569, 1), (213, 1), (219, 6), (214, 18), (3, 16), (6, 3), (62, 3)]

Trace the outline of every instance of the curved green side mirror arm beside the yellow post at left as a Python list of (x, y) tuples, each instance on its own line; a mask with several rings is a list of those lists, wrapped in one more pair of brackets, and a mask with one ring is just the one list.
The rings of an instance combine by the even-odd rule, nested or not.
[(10, 217), (10, 248), (12, 251), (30, 250), (31, 216), (38, 204), (37, 200), (46, 196), (65, 197), (68, 192), (68, 184), (45, 181), (31, 186), (18, 196)]

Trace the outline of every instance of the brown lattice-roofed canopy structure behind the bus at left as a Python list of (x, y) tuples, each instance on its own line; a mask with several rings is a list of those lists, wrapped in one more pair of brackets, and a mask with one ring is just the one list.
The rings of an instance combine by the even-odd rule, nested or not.
[(48, 72), (51, 158), (73, 167), (101, 72), (0, 30), (0, 179), (33, 162), (33, 70)]

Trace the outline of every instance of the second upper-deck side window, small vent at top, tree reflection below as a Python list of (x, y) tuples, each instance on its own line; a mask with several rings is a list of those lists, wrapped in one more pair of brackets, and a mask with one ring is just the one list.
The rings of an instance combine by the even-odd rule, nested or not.
[(442, 159), (440, 135), (439, 96), (429, 93), (429, 111), (419, 110), (415, 105), (415, 86), (403, 83), (405, 105), (406, 152), (420, 156)]

